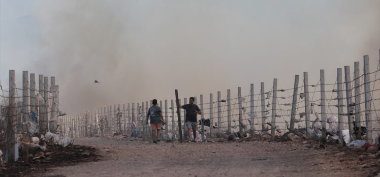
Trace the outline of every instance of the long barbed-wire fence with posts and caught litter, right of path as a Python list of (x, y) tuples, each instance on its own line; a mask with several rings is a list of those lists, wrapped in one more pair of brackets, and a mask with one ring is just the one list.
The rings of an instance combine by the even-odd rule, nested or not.
[[(274, 79), (269, 90), (265, 90), (264, 83), (261, 83), (260, 90), (254, 90), (252, 84), (245, 95), (239, 87), (237, 97), (233, 97), (230, 91), (223, 96), (218, 92), (216, 99), (213, 94), (208, 99), (203, 95), (195, 97), (195, 104), (202, 107), (202, 114), (198, 115), (198, 130), (205, 138), (233, 133), (274, 137), (289, 131), (301, 132), (310, 138), (337, 138), (341, 142), (347, 136), (371, 142), (378, 138), (380, 60), (377, 69), (369, 71), (369, 59), (365, 55), (364, 67), (360, 68), (356, 62), (354, 72), (349, 66), (344, 67), (344, 73), (337, 69), (333, 83), (325, 83), (324, 70), (320, 74), (320, 80), (313, 82), (307, 80), (307, 72), (303, 80), (299, 81), (299, 76), (296, 76), (295, 86), (291, 88), (281, 88)], [(180, 105), (187, 104), (187, 98), (178, 101)], [(186, 113), (180, 109), (182, 122), (178, 126), (176, 100), (162, 100), (158, 105), (162, 107), (166, 122), (162, 138), (178, 138), (179, 127), (186, 134), (183, 123)], [(145, 121), (150, 106), (151, 101), (118, 104), (62, 116), (58, 119), (62, 125), (60, 131), (70, 132), (73, 138), (123, 134), (148, 140), (151, 130)]]

